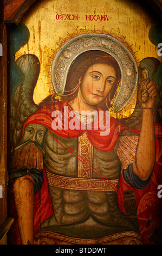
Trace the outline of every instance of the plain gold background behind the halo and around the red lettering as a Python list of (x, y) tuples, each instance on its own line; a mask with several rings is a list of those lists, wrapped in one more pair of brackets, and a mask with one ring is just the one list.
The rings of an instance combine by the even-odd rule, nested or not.
[[(57, 20), (57, 14), (78, 14), (79, 20)], [(88, 21), (86, 15), (107, 15), (109, 20)], [(22, 22), (29, 29), (30, 39), (16, 53), (15, 60), (24, 53), (35, 54), (40, 59), (40, 76), (34, 90), (35, 103), (40, 103), (53, 90), (50, 65), (59, 45), (82, 32), (111, 34), (129, 47), (137, 65), (146, 57), (160, 60), (157, 47), (148, 38), (148, 32), (155, 21), (135, 1), (43, 0), (28, 10)], [(118, 117), (131, 114), (134, 106), (135, 96), (124, 111), (118, 113)]]

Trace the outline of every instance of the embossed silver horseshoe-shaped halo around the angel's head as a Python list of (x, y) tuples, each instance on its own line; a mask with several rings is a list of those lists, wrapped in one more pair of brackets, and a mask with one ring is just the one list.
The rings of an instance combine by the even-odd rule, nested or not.
[(51, 66), (51, 81), (56, 94), (62, 95), (70, 65), (81, 53), (99, 50), (111, 55), (118, 62), (121, 86), (112, 108), (119, 112), (124, 108), (137, 89), (138, 68), (127, 47), (119, 40), (106, 34), (81, 34), (67, 41), (56, 53)]

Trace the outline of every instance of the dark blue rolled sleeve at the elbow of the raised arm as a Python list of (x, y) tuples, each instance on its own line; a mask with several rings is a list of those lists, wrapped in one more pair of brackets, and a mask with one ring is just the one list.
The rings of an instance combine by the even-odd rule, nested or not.
[(133, 173), (132, 164), (130, 164), (127, 169), (123, 170), (122, 175), (127, 184), (129, 184), (133, 188), (138, 188), (141, 190), (148, 186), (152, 177), (151, 173), (147, 180), (141, 180), (138, 175)]

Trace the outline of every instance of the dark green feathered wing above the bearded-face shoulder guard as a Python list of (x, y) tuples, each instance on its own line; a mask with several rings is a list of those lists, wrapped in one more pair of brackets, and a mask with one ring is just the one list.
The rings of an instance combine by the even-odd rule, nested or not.
[(40, 74), (40, 62), (33, 54), (25, 54), (17, 59), (16, 64), (24, 74), (24, 82), (18, 86), (10, 104), (10, 144), (15, 149), (22, 136), (25, 120), (40, 107), (33, 100), (34, 88)]

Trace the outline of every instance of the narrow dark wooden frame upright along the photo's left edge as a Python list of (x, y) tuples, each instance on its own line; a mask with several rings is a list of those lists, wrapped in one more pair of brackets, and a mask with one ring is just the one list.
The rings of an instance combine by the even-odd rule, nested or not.
[[(0, 38), (3, 46), (3, 56), (0, 57), (0, 184), (3, 188), (3, 198), (0, 198), (0, 223), (7, 218), (7, 28), (3, 23), (3, 8), (0, 10)], [(1, 227), (0, 227), (1, 229)], [(1, 233), (3, 231), (1, 230)], [(0, 236), (1, 237), (1, 236)], [(1, 237), (0, 243), (5, 244), (6, 238)]]

